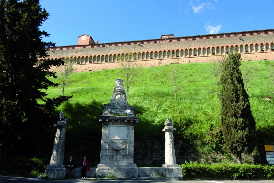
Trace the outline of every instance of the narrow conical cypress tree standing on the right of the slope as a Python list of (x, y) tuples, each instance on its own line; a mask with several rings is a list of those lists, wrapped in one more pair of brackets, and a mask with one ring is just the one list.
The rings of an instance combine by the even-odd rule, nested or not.
[(227, 149), (237, 154), (241, 163), (242, 152), (252, 152), (255, 146), (255, 120), (251, 114), (248, 94), (244, 90), (241, 54), (229, 53), (221, 76), (221, 124)]

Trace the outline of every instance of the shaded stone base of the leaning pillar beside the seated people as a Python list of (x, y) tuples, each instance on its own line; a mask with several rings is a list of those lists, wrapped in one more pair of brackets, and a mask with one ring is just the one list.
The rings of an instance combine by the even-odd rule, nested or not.
[(45, 175), (48, 179), (64, 179), (66, 175), (65, 165), (47, 165)]

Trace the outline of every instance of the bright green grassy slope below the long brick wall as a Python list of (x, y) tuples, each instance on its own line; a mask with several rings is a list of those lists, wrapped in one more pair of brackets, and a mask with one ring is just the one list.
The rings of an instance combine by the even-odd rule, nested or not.
[[(274, 66), (274, 61), (249, 61), (245, 65), (250, 70), (249, 100), (256, 120), (258, 146), (273, 143), (274, 100), (266, 98), (274, 98), (269, 76), (269, 67)], [(182, 81), (177, 100), (170, 79), (173, 66), (140, 68), (128, 96), (128, 103), (135, 107), (135, 116), (141, 117), (135, 126), (135, 138), (162, 137), (164, 122), (171, 117), (178, 135), (198, 152), (210, 153), (222, 149), (220, 101), (217, 96), (221, 86), (216, 86), (209, 63), (176, 64)], [(89, 129), (88, 134), (81, 135), (81, 138), (101, 137), (97, 115), (102, 115), (103, 105), (110, 102), (114, 80), (118, 77), (125, 80), (123, 70), (71, 74), (65, 95), (73, 97), (58, 108), (68, 117), (70, 127), (67, 133), (75, 135)], [(47, 93), (48, 97), (57, 97), (61, 95), (61, 88), (49, 88)], [(70, 142), (72, 146), (77, 145), (73, 140)]]

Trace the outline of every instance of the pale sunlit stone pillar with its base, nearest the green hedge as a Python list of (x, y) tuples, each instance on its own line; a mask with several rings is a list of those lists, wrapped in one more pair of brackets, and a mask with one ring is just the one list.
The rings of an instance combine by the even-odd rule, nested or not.
[(163, 165), (163, 175), (167, 178), (183, 178), (180, 165), (176, 164), (174, 137), (172, 131), (176, 130), (170, 118), (167, 118), (163, 131), (165, 132), (165, 164)]

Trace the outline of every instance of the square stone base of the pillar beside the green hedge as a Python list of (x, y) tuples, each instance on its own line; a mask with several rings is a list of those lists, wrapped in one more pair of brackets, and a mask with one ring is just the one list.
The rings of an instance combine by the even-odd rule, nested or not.
[(183, 180), (183, 172), (180, 165), (163, 165), (163, 175), (166, 178), (179, 178)]

